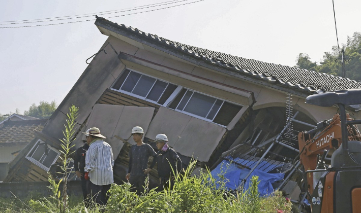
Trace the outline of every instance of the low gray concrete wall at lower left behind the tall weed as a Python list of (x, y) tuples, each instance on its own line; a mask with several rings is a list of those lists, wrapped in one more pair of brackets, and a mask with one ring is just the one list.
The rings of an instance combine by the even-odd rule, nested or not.
[[(80, 181), (68, 182), (68, 195), (82, 196)], [(48, 188), (49, 182), (18, 182), (18, 183), (0, 183), (0, 197), (14, 197), (25, 198), (28, 196), (48, 197), (52, 194)], [(61, 183), (60, 189), (63, 189)]]

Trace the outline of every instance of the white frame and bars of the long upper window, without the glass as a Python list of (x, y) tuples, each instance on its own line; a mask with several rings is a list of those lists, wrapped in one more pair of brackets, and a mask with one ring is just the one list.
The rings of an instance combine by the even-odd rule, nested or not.
[[(143, 74), (143, 73), (138, 72), (137, 70), (134, 70), (134, 69), (131, 69), (131, 68), (125, 68), (125, 70), (126, 70), (126, 69), (128, 69), (130, 72), (135, 72), (135, 73), (138, 73), (138, 74), (140, 74), (140, 75), (144, 75), (144, 76), (148, 76), (148, 77), (154, 78), (154, 79), (156, 79), (155, 83), (156, 83), (158, 80), (160, 80), (160, 81), (163, 81), (163, 82), (168, 83), (168, 86), (169, 86), (169, 84), (173, 84), (173, 83), (170, 83), (170, 82), (165, 81), (165, 80), (163, 80), (163, 79), (159, 79), (159, 78), (156, 78), (156, 77), (154, 77), (154, 76), (150, 76), (150, 75), (147, 75), (147, 74)], [(169, 110), (174, 110), (174, 111), (177, 111), (177, 112), (180, 112), (180, 113), (183, 113), (183, 114), (186, 114), (186, 115), (189, 115), (189, 116), (192, 116), (192, 117), (195, 117), (195, 118), (204, 120), (204, 121), (208, 121), (208, 122), (212, 122), (212, 123), (213, 123), (214, 119), (217, 117), (219, 111), (221, 110), (224, 102), (229, 102), (229, 103), (232, 103), (232, 104), (235, 104), (235, 105), (239, 105), (240, 107), (244, 107), (244, 105), (242, 105), (242, 104), (234, 103), (234, 102), (232, 102), (232, 101), (228, 101), (228, 100), (221, 99), (221, 98), (218, 98), (218, 97), (215, 97), (215, 96), (212, 96), (212, 95), (208, 95), (208, 94), (205, 94), (205, 93), (202, 93), (202, 92), (193, 90), (193, 89), (189, 89), (189, 88), (183, 87), (183, 86), (181, 86), (181, 85), (178, 85), (178, 87), (175, 88), (175, 90), (173, 91), (173, 93), (168, 97), (168, 99), (164, 102), (164, 104), (159, 104), (159, 103), (157, 103), (156, 101), (153, 101), (153, 100), (147, 99), (147, 98), (145, 98), (145, 97), (142, 97), (142, 96), (140, 96), (140, 95), (136, 95), (136, 94), (134, 94), (134, 93), (131, 93), (131, 92), (127, 92), (127, 91), (125, 91), (125, 90), (122, 90), (121, 88), (122, 88), (123, 84), (126, 82), (128, 76), (127, 76), (127, 78), (124, 80), (123, 84), (119, 87), (119, 89), (114, 89), (114, 88), (112, 88), (112, 87), (116, 84), (116, 82), (119, 80), (119, 78), (120, 78), (122, 75), (123, 75), (123, 73), (114, 81), (113, 85), (111, 85), (111, 88), (109, 88), (109, 89), (114, 90), (114, 91), (117, 91), (117, 92), (122, 92), (122, 93), (124, 93), (124, 94), (130, 95), (130, 96), (133, 96), (133, 97), (142, 99), (142, 100), (146, 100), (146, 101), (148, 101), (148, 102), (155, 103), (155, 104), (157, 104), (157, 105), (161, 105), (162, 107), (168, 108)], [(128, 74), (128, 75), (129, 75), (129, 74)], [(138, 82), (139, 82), (139, 80), (140, 80), (140, 78), (138, 79)], [(134, 88), (137, 86), (138, 82), (134, 85)], [(153, 84), (152, 88), (154, 87), (155, 83)], [(176, 84), (173, 84), (173, 85), (176, 85)], [(168, 86), (167, 86), (167, 87), (168, 87)], [(164, 89), (164, 91), (167, 89), (167, 87)], [(134, 90), (134, 88), (133, 88), (133, 90)], [(147, 95), (148, 95), (149, 92), (152, 90), (152, 88), (149, 89)], [(183, 108), (182, 111), (181, 111), (181, 110), (177, 110), (177, 107), (178, 107), (179, 103), (181, 103), (181, 101), (182, 101), (182, 99), (183, 99), (184, 96), (183, 96), (182, 99), (179, 101), (179, 103), (177, 104), (177, 106), (175, 107), (175, 109), (169, 108), (169, 105), (173, 102), (173, 100), (179, 95), (179, 93), (180, 93), (183, 89), (186, 89), (187, 91), (191, 91), (191, 92), (193, 92), (193, 94), (194, 94), (194, 92), (196, 92), (196, 93), (199, 93), (199, 94), (208, 96), (208, 97), (215, 98), (216, 101), (217, 101), (217, 100), (223, 101), (222, 104), (221, 104), (221, 106), (219, 107), (217, 113), (215, 114), (215, 116), (213, 117), (212, 120), (206, 118), (206, 117), (208, 116), (208, 114), (209, 114), (210, 111), (207, 113), (207, 116), (206, 116), (205, 118), (202, 117), (202, 116), (198, 116), (198, 115), (195, 115), (195, 114), (188, 113), (188, 112), (184, 111), (184, 109), (186, 108), (189, 100), (192, 98), (193, 94), (192, 94), (192, 96), (189, 98), (189, 100), (187, 101), (187, 103), (186, 103), (186, 105), (185, 105), (185, 107)], [(133, 91), (133, 90), (132, 90), (132, 91)], [(187, 92), (187, 91), (186, 91), (186, 92)], [(185, 93), (185, 94), (186, 94), (186, 93)], [(147, 95), (146, 95), (146, 96), (147, 96)], [(161, 97), (160, 97), (160, 98), (161, 98)], [(159, 99), (160, 99), (160, 98), (159, 98)], [(157, 101), (159, 101), (159, 99), (158, 99)], [(213, 103), (213, 105), (216, 103), (216, 101)], [(212, 107), (213, 107), (213, 106), (212, 106)], [(211, 109), (212, 109), (212, 108), (211, 108)], [(215, 124), (217, 124), (217, 123), (215, 123)], [(217, 125), (226, 127), (226, 126), (224, 126), (224, 125), (222, 125), (222, 124), (217, 124)]]

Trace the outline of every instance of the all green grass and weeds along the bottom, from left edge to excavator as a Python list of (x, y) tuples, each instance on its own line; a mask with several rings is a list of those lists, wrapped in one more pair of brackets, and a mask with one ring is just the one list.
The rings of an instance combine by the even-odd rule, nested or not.
[[(274, 192), (267, 197), (260, 197), (258, 193), (258, 177), (253, 176), (251, 187), (248, 191), (231, 194), (227, 190), (216, 188), (216, 184), (224, 186), (224, 181), (219, 183), (207, 170), (200, 176), (190, 176), (194, 164), (191, 164), (185, 174), (178, 175), (173, 190), (157, 191), (152, 189), (138, 196), (130, 190), (130, 185), (113, 184), (110, 198), (104, 212), (132, 212), (132, 213), (291, 213), (292, 204), (282, 193)], [(221, 177), (222, 175), (220, 175)], [(222, 185), (223, 184), (223, 185)], [(81, 197), (70, 197), (69, 208), (66, 212), (86, 212)], [(16, 198), (0, 200), (1, 212), (59, 212), (56, 198), (28, 197), (23, 200)], [(99, 208), (88, 209), (88, 213), (102, 212)]]

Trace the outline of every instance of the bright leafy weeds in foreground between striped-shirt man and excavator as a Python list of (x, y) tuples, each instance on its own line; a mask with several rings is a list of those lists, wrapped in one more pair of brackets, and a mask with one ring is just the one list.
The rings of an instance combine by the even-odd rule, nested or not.
[[(244, 193), (232, 194), (223, 187), (224, 181), (217, 182), (210, 171), (200, 176), (190, 176), (195, 162), (191, 163), (184, 175), (177, 175), (174, 189), (157, 191), (152, 189), (140, 196), (130, 191), (130, 184), (112, 185), (106, 210), (108, 212), (275, 212), (289, 213), (292, 204), (282, 193), (276, 191), (268, 197), (259, 197), (258, 177), (253, 176), (251, 187)], [(240, 190), (242, 191), (242, 190)]]

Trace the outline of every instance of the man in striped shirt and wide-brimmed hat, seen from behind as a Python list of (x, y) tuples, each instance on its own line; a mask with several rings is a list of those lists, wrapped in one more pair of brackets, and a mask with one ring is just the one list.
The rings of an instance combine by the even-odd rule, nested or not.
[(92, 196), (92, 201), (99, 205), (105, 205), (108, 201), (107, 194), (113, 183), (113, 151), (111, 146), (106, 143), (96, 127), (90, 128), (87, 132), (91, 139), (89, 149), (85, 157), (85, 179), (89, 180), (88, 192)]

